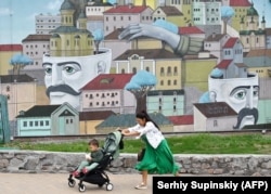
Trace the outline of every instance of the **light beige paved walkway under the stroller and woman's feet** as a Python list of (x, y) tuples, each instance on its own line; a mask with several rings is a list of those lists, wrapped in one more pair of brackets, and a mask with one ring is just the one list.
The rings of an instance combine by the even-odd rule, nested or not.
[(108, 174), (113, 184), (112, 191), (106, 191), (105, 185), (99, 187), (96, 184), (83, 182), (85, 192), (79, 192), (79, 180), (75, 179), (74, 187), (68, 185), (68, 173), (0, 173), (1, 194), (72, 194), (90, 193), (95, 194), (150, 194), (152, 193), (152, 176), (149, 176), (147, 190), (136, 190), (133, 186), (141, 181), (141, 174)]

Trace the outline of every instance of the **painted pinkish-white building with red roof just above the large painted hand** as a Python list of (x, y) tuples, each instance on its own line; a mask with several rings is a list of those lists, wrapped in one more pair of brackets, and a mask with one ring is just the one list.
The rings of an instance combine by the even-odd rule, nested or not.
[(104, 14), (104, 35), (125, 28), (131, 23), (151, 24), (153, 9), (143, 5), (117, 5), (103, 12)]

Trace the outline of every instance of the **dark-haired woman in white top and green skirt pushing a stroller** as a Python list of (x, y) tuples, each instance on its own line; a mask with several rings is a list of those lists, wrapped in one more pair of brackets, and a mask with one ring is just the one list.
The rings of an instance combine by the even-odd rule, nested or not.
[(179, 166), (175, 163), (172, 153), (162, 134), (159, 127), (143, 111), (137, 114), (134, 127), (121, 130), (125, 137), (138, 137), (145, 143), (145, 154), (136, 165), (142, 172), (142, 182), (136, 186), (138, 190), (147, 189), (147, 173), (173, 173), (179, 176)]

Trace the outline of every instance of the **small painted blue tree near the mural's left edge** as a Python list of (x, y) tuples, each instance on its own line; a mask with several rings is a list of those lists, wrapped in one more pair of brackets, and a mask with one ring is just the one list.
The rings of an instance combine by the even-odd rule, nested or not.
[(20, 75), (20, 70), (31, 63), (31, 59), (29, 59), (27, 55), (22, 53), (14, 54), (10, 61), (10, 64), (13, 66), (13, 75)]

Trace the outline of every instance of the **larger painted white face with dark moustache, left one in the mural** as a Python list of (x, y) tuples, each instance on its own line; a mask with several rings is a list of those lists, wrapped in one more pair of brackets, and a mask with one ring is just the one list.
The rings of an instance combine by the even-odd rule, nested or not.
[(68, 102), (79, 108), (80, 89), (98, 76), (98, 64), (104, 65), (104, 73), (111, 68), (112, 51), (100, 49), (100, 53), (88, 56), (43, 56), (44, 82), (50, 104)]

